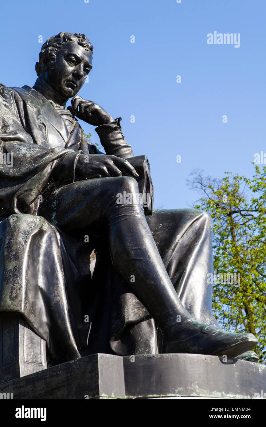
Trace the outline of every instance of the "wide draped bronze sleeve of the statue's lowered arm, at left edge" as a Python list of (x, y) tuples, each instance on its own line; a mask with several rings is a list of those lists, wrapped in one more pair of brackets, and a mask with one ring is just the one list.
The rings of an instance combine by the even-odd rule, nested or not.
[[(81, 151), (33, 143), (26, 132), (23, 100), (12, 88), (0, 85), (0, 217), (12, 213), (37, 215), (42, 190), (60, 159), (62, 181), (75, 180)], [(62, 169), (62, 167), (60, 167)]]

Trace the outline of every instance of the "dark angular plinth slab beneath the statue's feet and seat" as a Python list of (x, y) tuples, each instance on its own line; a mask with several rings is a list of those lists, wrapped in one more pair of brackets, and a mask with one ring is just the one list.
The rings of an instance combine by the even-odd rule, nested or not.
[(261, 390), (266, 366), (200, 354), (93, 354), (0, 385), (14, 399), (253, 399)]

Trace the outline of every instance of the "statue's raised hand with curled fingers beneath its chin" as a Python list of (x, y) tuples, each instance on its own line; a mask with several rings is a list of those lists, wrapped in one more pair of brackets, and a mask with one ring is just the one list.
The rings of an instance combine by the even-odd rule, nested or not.
[(106, 123), (113, 123), (114, 119), (107, 111), (94, 101), (86, 100), (76, 95), (71, 100), (72, 107), (67, 107), (74, 116), (84, 120), (92, 126), (100, 126)]

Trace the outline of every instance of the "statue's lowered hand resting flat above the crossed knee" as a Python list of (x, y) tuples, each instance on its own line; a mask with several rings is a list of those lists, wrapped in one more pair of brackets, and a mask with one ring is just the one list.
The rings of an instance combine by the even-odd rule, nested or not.
[(79, 178), (83, 179), (122, 176), (122, 170), (126, 170), (134, 178), (139, 177), (129, 161), (112, 155), (91, 154), (85, 156), (81, 154), (76, 165), (76, 173)]

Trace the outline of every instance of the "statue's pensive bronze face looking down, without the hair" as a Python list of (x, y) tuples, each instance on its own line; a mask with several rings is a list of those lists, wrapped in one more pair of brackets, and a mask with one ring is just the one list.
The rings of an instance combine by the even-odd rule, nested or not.
[(82, 88), (92, 69), (91, 50), (85, 50), (75, 41), (63, 43), (56, 61), (48, 67), (44, 78), (62, 97), (72, 98)]

